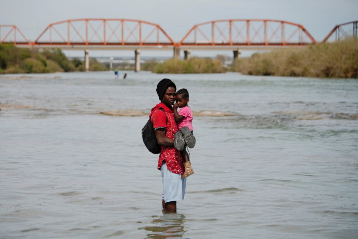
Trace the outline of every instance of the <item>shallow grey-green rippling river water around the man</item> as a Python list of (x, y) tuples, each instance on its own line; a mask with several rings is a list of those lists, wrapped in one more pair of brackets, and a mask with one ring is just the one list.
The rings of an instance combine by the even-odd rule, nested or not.
[[(0, 76), (0, 238), (358, 237), (357, 80), (127, 73)], [(161, 78), (232, 115), (194, 117), (177, 214), (147, 116), (99, 114), (149, 114)]]

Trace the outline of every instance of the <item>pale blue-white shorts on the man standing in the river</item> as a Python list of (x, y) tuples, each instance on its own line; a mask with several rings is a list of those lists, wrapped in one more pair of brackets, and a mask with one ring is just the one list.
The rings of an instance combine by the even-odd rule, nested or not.
[(181, 174), (170, 172), (163, 162), (160, 167), (161, 179), (163, 180), (163, 194), (162, 199), (165, 202), (180, 201), (184, 199), (185, 187), (187, 186), (187, 178), (182, 177)]

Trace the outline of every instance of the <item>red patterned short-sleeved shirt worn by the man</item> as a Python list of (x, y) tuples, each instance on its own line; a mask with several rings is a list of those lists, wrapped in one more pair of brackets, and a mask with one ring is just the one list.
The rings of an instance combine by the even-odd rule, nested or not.
[[(164, 111), (160, 110), (160, 108), (163, 108)], [(153, 123), (154, 129), (165, 128), (165, 136), (170, 139), (174, 139), (174, 134), (178, 131), (178, 127), (176, 126), (172, 107), (169, 108), (165, 104), (159, 103), (153, 107), (149, 117)], [(180, 151), (174, 147), (163, 145), (160, 145), (160, 147), (161, 151), (159, 154), (158, 169), (160, 170), (160, 167), (163, 164), (163, 160), (165, 159), (166, 166), (170, 172), (183, 174), (185, 168), (183, 166), (183, 160)]]

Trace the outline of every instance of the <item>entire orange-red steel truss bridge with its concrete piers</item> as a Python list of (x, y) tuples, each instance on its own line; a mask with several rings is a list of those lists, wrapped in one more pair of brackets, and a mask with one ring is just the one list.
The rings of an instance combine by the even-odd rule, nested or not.
[[(357, 35), (357, 21), (337, 25), (324, 39), (342, 30), (343, 25), (353, 24)], [(336, 37), (337, 39), (337, 37)], [(208, 21), (194, 25), (180, 40), (174, 42), (160, 25), (142, 20), (86, 18), (59, 21), (47, 28), (30, 42), (15, 25), (0, 25), (0, 44), (13, 43), (18, 47), (41, 49), (83, 49), (86, 69), (89, 50), (135, 50), (136, 70), (139, 70), (141, 49), (173, 49), (173, 57), (179, 58), (184, 50), (185, 59), (190, 50), (232, 50), (234, 58), (241, 49), (275, 49), (303, 47), (316, 43), (308, 30), (300, 24), (269, 19), (228, 19)]]

